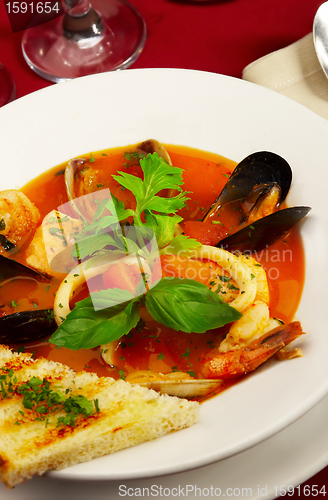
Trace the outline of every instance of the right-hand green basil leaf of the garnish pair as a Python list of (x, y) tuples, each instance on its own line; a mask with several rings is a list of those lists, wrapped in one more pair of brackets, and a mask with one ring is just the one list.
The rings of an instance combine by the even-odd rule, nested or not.
[(146, 293), (145, 305), (156, 321), (187, 333), (204, 333), (242, 316), (206, 285), (180, 278), (162, 278)]

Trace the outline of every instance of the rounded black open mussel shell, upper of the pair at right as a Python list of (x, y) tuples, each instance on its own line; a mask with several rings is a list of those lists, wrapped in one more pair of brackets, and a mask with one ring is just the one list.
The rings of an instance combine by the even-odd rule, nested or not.
[[(269, 151), (259, 151), (244, 158), (234, 169), (225, 187), (205, 214), (203, 221), (210, 220), (226, 203), (245, 200), (256, 188), (257, 194), (268, 186), (279, 186), (278, 204), (284, 201), (292, 181), (292, 170), (288, 162)], [(255, 193), (253, 192), (253, 195)], [(253, 196), (253, 203), (256, 202)]]

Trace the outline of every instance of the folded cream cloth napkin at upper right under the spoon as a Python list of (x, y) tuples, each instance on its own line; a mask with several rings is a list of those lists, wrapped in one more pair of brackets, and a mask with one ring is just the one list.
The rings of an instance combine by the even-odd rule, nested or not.
[(312, 33), (252, 62), (244, 69), (243, 79), (276, 90), (328, 119), (328, 79)]

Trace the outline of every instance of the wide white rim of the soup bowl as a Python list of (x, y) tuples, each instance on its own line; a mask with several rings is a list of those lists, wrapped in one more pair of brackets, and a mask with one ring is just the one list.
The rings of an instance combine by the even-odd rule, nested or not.
[[(74, 156), (155, 138), (240, 161), (269, 150), (290, 163), (288, 202), (309, 205), (302, 226), (306, 281), (297, 319), (304, 357), (273, 363), (201, 406), (200, 422), (55, 477), (158, 476), (226, 458), (295, 421), (328, 392), (325, 279), (328, 122), (262, 87), (221, 75), (146, 69), (48, 87), (0, 110), (0, 189), (19, 187)], [(204, 174), (202, 174), (204, 175)]]

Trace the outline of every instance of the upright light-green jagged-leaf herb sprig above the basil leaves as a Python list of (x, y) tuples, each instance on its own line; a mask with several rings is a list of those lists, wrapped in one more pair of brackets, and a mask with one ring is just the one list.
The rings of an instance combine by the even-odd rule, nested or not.
[[(175, 240), (176, 224), (183, 219), (177, 211), (187, 202), (188, 193), (181, 189), (183, 184), (182, 169), (168, 165), (157, 153), (148, 154), (140, 160), (143, 179), (127, 172), (118, 172), (113, 178), (125, 189), (131, 191), (136, 200), (136, 208), (125, 208), (123, 201), (113, 194), (111, 199), (99, 201), (91, 224), (87, 224), (76, 242), (73, 256), (84, 260), (91, 258), (89, 266), (102, 258), (104, 254), (113, 250), (133, 253), (138, 251), (135, 238), (125, 235), (126, 229), (118, 223), (132, 218), (133, 225), (138, 227), (139, 235), (142, 229), (147, 232), (151, 229), (155, 234), (158, 248), (165, 252), (168, 244)], [(159, 193), (163, 189), (178, 192), (177, 195), (167, 198)], [(149, 231), (148, 231), (149, 232)], [(181, 249), (185, 252), (200, 246), (200, 243), (185, 235), (180, 235), (179, 244), (172, 245), (170, 253), (177, 253)], [(135, 248), (134, 248), (135, 247)]]

